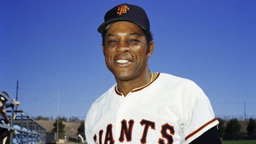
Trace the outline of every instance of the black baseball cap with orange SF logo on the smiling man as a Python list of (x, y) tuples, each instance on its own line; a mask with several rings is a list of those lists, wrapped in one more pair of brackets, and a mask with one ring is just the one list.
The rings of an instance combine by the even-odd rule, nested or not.
[(144, 9), (137, 5), (123, 3), (113, 7), (105, 14), (105, 22), (99, 26), (98, 32), (103, 33), (110, 24), (119, 20), (133, 22), (144, 30), (150, 30), (148, 16)]

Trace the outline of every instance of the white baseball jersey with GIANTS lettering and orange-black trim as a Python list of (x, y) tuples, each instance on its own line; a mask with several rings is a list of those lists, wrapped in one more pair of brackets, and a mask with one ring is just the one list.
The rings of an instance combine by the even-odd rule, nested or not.
[(210, 101), (191, 80), (157, 73), (126, 97), (116, 84), (91, 106), (85, 120), (88, 144), (190, 143), (218, 125)]

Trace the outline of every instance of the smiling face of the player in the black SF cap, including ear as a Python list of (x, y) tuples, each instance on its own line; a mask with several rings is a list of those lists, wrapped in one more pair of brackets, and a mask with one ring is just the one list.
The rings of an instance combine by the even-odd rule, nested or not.
[(139, 78), (148, 70), (147, 59), (153, 52), (154, 43), (149, 45), (139, 25), (127, 21), (114, 22), (107, 29), (105, 46), (102, 45), (108, 69), (119, 80)]

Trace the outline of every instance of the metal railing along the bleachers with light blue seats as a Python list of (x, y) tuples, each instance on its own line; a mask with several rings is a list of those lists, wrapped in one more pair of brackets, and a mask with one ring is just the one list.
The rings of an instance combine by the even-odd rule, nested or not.
[[(9, 107), (6, 109), (7, 116), (10, 118), (10, 125), (0, 124), (1, 128), (6, 128), (11, 131), (10, 135), (10, 143), (13, 144), (14, 140), (15, 143), (45, 143), (46, 141), (46, 129), (42, 127), (36, 120), (30, 117), (28, 114), (24, 112), (20, 107), (15, 105), (9, 97), (7, 97), (4, 93), (0, 91), (0, 96), (7, 99), (8, 103), (3, 104), (4, 107)], [(18, 110), (15, 110), (14, 108)], [(0, 114), (1, 115), (1, 114)], [(14, 119), (16, 115), (16, 118)], [(3, 117), (1, 115), (1, 117)], [(14, 139), (14, 131), (17, 131), (17, 135)]]

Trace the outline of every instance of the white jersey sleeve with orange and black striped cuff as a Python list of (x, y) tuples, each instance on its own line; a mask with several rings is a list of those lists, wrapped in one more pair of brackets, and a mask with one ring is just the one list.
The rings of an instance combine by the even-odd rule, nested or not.
[(205, 93), (199, 93), (197, 99), (188, 107), (188, 122), (183, 130), (185, 140), (190, 143), (210, 128), (218, 125), (212, 106)]

